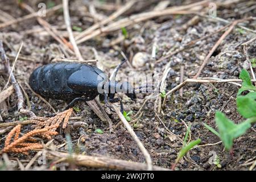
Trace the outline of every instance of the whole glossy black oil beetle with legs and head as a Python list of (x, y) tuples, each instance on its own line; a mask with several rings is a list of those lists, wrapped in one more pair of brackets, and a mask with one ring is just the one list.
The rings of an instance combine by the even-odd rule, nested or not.
[[(115, 68), (114, 79), (118, 69), (125, 63)], [(135, 89), (129, 82), (119, 84), (116, 81), (109, 81), (108, 76), (89, 64), (80, 63), (51, 63), (35, 69), (29, 78), (31, 88), (46, 98), (68, 101), (66, 109), (72, 107), (77, 101), (90, 101), (100, 95), (100, 100), (109, 102), (120, 102), (121, 99), (114, 98), (115, 93), (123, 92), (131, 100), (136, 100)]]

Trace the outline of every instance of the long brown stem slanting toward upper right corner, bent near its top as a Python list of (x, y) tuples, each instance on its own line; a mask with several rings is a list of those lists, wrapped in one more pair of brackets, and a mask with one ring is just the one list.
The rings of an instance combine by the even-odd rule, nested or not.
[(214, 46), (212, 47), (212, 49), (210, 49), (210, 52), (208, 53), (208, 55), (205, 57), (203, 64), (201, 64), (199, 71), (196, 73), (196, 75), (193, 78), (197, 78), (199, 77), (199, 75), (201, 74), (201, 72), (203, 71), (205, 65), (208, 63), (208, 60), (210, 59), (210, 56), (212, 56), (213, 52), (217, 49), (218, 46), (220, 46), (222, 40), (224, 40), (226, 38), (226, 36), (229, 35), (229, 33), (233, 30), (233, 28), (237, 25), (237, 23), (243, 22), (245, 20), (250, 20), (252, 19), (251, 17), (249, 18), (245, 18), (245, 19), (238, 19), (238, 20), (234, 20), (234, 22), (230, 25), (230, 27), (228, 28), (228, 30), (226, 30), (224, 32), (224, 34), (222, 34), (222, 36), (220, 37), (220, 39), (218, 39), (218, 41), (214, 44)]

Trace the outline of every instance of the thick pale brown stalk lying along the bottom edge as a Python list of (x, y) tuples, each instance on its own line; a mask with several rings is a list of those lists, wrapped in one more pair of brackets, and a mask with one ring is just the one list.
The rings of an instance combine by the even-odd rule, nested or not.
[[(107, 168), (107, 169), (117, 169), (117, 170), (146, 170), (147, 164), (131, 162), (120, 159), (113, 159), (106, 156), (89, 156), (89, 155), (76, 155), (76, 154), (68, 154), (64, 152), (57, 151), (47, 151), (47, 157), (50, 159), (59, 158), (65, 159), (66, 162), (70, 161), (72, 158), (75, 164), (80, 166), (94, 167), (94, 168)], [(170, 169), (152, 166), (152, 170), (158, 171), (168, 171)]]

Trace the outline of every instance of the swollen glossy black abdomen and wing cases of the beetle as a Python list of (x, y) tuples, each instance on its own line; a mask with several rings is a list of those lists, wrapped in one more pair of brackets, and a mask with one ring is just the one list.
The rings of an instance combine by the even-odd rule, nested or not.
[(104, 72), (90, 65), (53, 63), (36, 68), (30, 76), (30, 86), (43, 97), (70, 101), (84, 96), (93, 100), (98, 95), (98, 82), (106, 79)]

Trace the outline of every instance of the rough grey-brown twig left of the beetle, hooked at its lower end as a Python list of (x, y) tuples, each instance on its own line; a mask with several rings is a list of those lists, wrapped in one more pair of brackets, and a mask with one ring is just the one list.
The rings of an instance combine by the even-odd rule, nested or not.
[(31, 117), (35, 117), (35, 114), (32, 111), (23, 109), (24, 98), (22, 95), (22, 91), (20, 90), (20, 87), (19, 87), (18, 82), (16, 81), (16, 78), (14, 77), (13, 73), (11, 72), (9, 59), (7, 58), (7, 56), (5, 54), (5, 49), (3, 49), (2, 40), (0, 40), (0, 53), (1, 53), (1, 59), (3, 61), (3, 64), (5, 65), (5, 70), (11, 76), (11, 84), (13, 84), (15, 93), (18, 97), (18, 111), (20, 113), (28, 114)]

